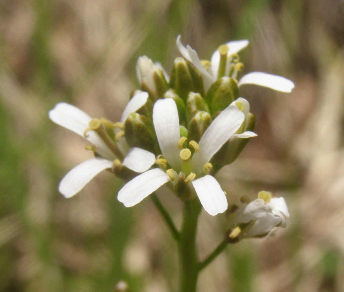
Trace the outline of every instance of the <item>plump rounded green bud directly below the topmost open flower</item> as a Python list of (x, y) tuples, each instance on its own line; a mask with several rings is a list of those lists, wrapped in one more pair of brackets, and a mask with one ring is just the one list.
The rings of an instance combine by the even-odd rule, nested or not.
[(230, 77), (216, 80), (209, 88), (205, 100), (212, 115), (224, 110), (239, 97), (239, 88), (236, 81)]

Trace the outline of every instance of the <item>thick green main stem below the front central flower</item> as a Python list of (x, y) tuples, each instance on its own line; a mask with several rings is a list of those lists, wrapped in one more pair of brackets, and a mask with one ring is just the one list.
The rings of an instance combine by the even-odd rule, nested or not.
[(196, 231), (202, 206), (198, 199), (184, 202), (183, 223), (180, 231), (180, 292), (195, 292), (198, 277)]

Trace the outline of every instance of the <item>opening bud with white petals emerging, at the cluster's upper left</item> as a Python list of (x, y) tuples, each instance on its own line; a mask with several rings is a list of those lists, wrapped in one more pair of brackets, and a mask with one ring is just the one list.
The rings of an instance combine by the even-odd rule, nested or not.
[(142, 56), (138, 58), (136, 72), (141, 89), (148, 92), (149, 98), (153, 102), (161, 98), (168, 88), (161, 69), (154, 65), (152, 60)]

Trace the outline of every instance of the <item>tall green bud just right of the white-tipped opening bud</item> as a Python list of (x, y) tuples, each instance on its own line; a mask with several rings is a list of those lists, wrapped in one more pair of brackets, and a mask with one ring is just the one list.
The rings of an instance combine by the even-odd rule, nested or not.
[(170, 77), (170, 87), (173, 88), (185, 102), (190, 91), (200, 93), (203, 91), (200, 76), (190, 63), (186, 62), (183, 58), (176, 58), (174, 60)]

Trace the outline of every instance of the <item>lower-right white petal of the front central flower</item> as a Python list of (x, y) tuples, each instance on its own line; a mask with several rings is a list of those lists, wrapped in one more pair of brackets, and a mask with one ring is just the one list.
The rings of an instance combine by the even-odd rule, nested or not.
[(211, 175), (205, 175), (192, 182), (203, 208), (210, 215), (215, 216), (227, 210), (228, 203), (221, 186)]

